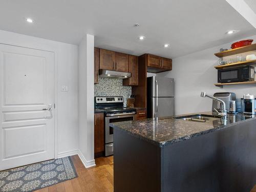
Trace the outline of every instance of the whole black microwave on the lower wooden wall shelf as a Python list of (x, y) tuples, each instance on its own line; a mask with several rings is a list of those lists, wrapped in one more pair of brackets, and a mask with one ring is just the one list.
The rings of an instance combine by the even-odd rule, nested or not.
[(218, 70), (218, 82), (254, 81), (254, 67), (243, 66)]

